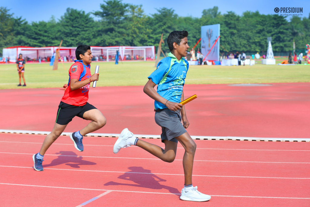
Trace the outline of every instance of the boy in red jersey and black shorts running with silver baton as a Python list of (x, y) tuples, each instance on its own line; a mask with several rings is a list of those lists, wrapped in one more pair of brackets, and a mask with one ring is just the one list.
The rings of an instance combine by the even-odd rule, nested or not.
[(65, 92), (57, 110), (56, 123), (50, 134), (45, 137), (39, 153), (32, 156), (34, 169), (43, 171), (43, 156), (51, 144), (61, 135), (73, 117), (91, 120), (91, 122), (78, 132), (70, 134), (75, 148), (83, 151), (83, 136), (102, 128), (106, 124), (104, 115), (87, 102), (89, 86), (92, 81), (98, 80), (99, 73), (91, 75), (91, 47), (79, 45), (75, 51), (74, 64), (69, 69), (68, 87), (64, 86)]

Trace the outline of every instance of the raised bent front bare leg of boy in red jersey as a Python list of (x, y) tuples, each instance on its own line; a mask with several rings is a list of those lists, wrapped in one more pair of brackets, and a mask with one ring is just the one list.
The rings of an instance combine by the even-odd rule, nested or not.
[(83, 118), (86, 120), (91, 120), (92, 122), (80, 130), (80, 134), (82, 136), (102, 128), (107, 123), (107, 119), (98, 109), (86, 111), (83, 114)]

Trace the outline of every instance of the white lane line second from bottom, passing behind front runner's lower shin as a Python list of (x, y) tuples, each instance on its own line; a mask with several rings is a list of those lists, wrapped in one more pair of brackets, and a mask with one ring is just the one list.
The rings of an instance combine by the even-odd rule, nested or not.
[[(33, 167), (20, 167), (20, 166), (5, 166), (0, 165), (0, 167), (9, 168), (32, 168)], [(77, 169), (58, 169), (58, 168), (44, 168), (49, 170), (69, 170), (69, 171), (86, 171), (86, 172), (100, 172), (100, 173), (133, 173), (133, 174), (156, 174), (156, 175), (181, 175), (184, 174), (168, 174), (168, 173), (139, 173), (139, 172), (120, 172), (120, 171), (104, 171), (104, 170), (77, 170)], [(277, 179), (310, 179), (310, 178), (279, 178), (279, 177), (253, 177), (253, 176), (225, 176), (225, 175), (193, 175), (200, 177), (224, 177), (224, 178), (277, 178)]]

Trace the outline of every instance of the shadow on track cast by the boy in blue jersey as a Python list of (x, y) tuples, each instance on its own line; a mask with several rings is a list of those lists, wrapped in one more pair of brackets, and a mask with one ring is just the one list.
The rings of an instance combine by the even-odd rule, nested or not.
[(105, 183), (104, 186), (123, 185), (123, 186), (144, 187), (150, 189), (167, 189), (170, 193), (181, 194), (180, 191), (174, 187), (169, 187), (160, 184), (159, 182), (166, 182), (166, 180), (159, 178), (157, 175), (154, 175), (153, 173), (151, 173), (151, 170), (143, 169), (143, 167), (129, 167), (128, 169), (130, 169), (129, 172), (126, 172), (123, 175), (118, 176), (118, 178), (123, 180), (130, 180), (137, 184), (118, 183), (110, 181)]

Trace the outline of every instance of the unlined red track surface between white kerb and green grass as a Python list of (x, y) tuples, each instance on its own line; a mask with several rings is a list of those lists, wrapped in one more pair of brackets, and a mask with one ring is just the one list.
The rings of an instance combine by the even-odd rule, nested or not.
[[(310, 138), (310, 83), (272, 86), (185, 85), (185, 105), (196, 136)], [(63, 91), (58, 88), (1, 90), (0, 129), (51, 131)], [(91, 88), (89, 103), (107, 118), (97, 133), (161, 133), (154, 121), (153, 101), (141, 86)], [(84, 127), (78, 117), (65, 132)]]

